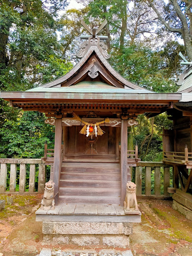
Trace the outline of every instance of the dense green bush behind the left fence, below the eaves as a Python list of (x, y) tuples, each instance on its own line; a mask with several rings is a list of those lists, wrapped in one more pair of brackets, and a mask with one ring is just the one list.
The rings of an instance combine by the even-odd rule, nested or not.
[(40, 112), (20, 112), (16, 120), (6, 119), (0, 128), (0, 158), (41, 158), (45, 141), (53, 148), (52, 126)]

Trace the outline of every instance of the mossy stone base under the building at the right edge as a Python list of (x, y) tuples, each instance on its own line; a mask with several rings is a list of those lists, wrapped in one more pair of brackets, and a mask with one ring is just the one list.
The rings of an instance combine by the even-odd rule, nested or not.
[(176, 189), (173, 194), (172, 208), (184, 214), (187, 219), (192, 221), (192, 195)]

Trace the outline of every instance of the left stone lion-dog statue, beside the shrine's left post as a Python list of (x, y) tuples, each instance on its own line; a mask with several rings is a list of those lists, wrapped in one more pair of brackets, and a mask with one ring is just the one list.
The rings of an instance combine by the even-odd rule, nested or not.
[(54, 185), (52, 180), (49, 180), (45, 184), (45, 192), (42, 196), (40, 208), (43, 210), (54, 210), (55, 209), (55, 199), (54, 199)]

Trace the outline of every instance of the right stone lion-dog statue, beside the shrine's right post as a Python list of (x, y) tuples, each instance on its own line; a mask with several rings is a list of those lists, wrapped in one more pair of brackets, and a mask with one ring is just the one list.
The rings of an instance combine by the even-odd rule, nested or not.
[(136, 184), (129, 181), (126, 185), (126, 197), (124, 201), (125, 214), (129, 211), (139, 211), (136, 201)]

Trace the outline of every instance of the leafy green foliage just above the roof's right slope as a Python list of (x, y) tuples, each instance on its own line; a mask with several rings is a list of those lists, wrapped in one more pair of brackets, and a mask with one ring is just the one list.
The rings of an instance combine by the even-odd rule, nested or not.
[(170, 76), (168, 57), (174, 59), (175, 56), (167, 56), (167, 48), (154, 51), (138, 44), (124, 48), (122, 52), (113, 51), (110, 63), (122, 76), (143, 88), (155, 92), (175, 92), (178, 88), (175, 78)]

